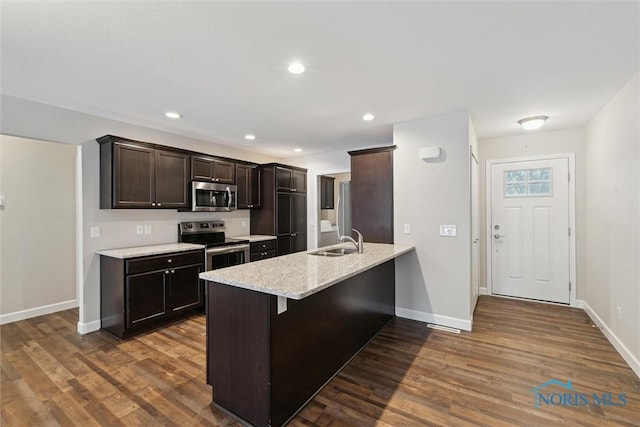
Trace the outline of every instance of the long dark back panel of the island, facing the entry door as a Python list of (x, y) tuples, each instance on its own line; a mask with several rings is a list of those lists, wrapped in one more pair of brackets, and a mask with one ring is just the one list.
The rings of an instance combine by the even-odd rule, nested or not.
[(295, 414), (395, 315), (395, 263), (387, 261), (277, 314), (271, 297), (271, 425)]

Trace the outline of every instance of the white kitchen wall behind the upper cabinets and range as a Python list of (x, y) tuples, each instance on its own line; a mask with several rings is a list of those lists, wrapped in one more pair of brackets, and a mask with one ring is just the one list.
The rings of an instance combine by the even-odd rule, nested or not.
[[(177, 241), (177, 223), (189, 220), (224, 219), (227, 234), (249, 234), (249, 211), (230, 213), (178, 213), (174, 210), (99, 209), (99, 150), (95, 138), (106, 134), (178, 147), (202, 153), (267, 163), (278, 159), (237, 150), (184, 136), (134, 126), (23, 99), (2, 96), (0, 126), (4, 133), (82, 145), (82, 270), (78, 292), (78, 329), (90, 332), (100, 326), (99, 249), (130, 247)], [(74, 147), (75, 152), (75, 147)], [(57, 169), (56, 169), (57, 170)], [(243, 224), (244, 221), (244, 224)], [(136, 235), (137, 224), (151, 224), (153, 233)], [(90, 238), (90, 227), (99, 226), (101, 236)], [(29, 265), (29, 259), (20, 261)], [(73, 284), (75, 287), (75, 283)]]

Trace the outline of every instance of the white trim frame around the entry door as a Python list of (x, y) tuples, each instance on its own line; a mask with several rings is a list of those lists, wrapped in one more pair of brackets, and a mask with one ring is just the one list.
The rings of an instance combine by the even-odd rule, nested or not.
[[(578, 284), (576, 283), (576, 155), (575, 153), (562, 153), (562, 154), (543, 154), (538, 156), (527, 157), (510, 157), (506, 159), (491, 159), (486, 160), (485, 163), (485, 253), (487, 258), (487, 294), (492, 293), (492, 277), (491, 277), (491, 167), (494, 164), (499, 163), (514, 163), (514, 162), (529, 162), (536, 160), (552, 160), (552, 159), (568, 159), (569, 162), (569, 227), (571, 228), (571, 235), (569, 236), (569, 282), (571, 283), (571, 290), (569, 291), (569, 306), (577, 307), (576, 305), (576, 289)], [(502, 298), (515, 298), (502, 295), (494, 295)], [(533, 300), (532, 300), (533, 301)], [(536, 300), (537, 301), (537, 300)], [(539, 301), (545, 302), (545, 301)], [(559, 304), (548, 302), (549, 304)], [(562, 304), (564, 305), (564, 304)]]

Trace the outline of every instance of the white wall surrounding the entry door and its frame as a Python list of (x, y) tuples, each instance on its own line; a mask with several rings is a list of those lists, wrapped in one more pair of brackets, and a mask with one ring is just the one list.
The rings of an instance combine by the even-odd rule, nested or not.
[[(525, 131), (523, 131), (525, 132)], [(527, 132), (522, 135), (479, 142), (480, 154), (480, 286), (487, 286), (486, 166), (487, 160), (509, 159), (546, 154), (575, 153), (576, 171), (576, 295), (584, 294), (584, 207), (585, 148), (584, 129), (555, 132)]]

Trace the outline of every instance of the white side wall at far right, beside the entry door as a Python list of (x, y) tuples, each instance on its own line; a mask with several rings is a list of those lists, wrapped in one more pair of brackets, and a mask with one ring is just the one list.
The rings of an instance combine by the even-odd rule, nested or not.
[(636, 74), (587, 125), (583, 296), (640, 376), (639, 92)]

